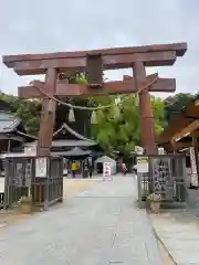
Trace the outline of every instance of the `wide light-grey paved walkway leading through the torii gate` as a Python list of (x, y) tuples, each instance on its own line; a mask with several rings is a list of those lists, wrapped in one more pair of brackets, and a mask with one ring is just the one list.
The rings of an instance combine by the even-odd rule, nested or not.
[(161, 265), (150, 222), (136, 206), (132, 177), (90, 190), (0, 230), (1, 265)]

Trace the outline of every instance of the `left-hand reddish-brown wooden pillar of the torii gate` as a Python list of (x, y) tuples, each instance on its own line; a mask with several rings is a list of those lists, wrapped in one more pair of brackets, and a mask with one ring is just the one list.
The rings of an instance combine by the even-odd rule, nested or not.
[[(45, 75), (45, 85), (48, 86), (48, 94), (53, 96), (56, 89), (56, 70), (48, 68)], [(51, 109), (50, 109), (51, 104)], [(42, 114), (40, 120), (40, 131), (38, 137), (38, 156), (49, 156), (52, 145), (53, 127), (55, 119), (56, 103), (50, 98), (43, 98)]]

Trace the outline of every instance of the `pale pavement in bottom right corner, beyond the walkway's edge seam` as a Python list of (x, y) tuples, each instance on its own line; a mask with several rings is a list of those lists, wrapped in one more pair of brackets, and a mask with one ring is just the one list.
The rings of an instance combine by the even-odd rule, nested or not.
[(154, 229), (178, 265), (199, 265), (199, 222), (186, 209), (150, 215)]

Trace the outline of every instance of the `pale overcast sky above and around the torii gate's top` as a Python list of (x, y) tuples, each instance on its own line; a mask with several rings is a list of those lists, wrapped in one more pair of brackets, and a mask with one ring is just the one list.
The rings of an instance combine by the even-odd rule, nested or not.
[[(199, 91), (198, 0), (2, 0), (0, 33), (0, 55), (186, 41), (185, 56), (157, 70), (177, 78), (177, 92)], [(32, 78), (2, 63), (0, 71), (0, 89), (9, 94)], [(108, 77), (124, 73), (130, 71), (112, 71)]]

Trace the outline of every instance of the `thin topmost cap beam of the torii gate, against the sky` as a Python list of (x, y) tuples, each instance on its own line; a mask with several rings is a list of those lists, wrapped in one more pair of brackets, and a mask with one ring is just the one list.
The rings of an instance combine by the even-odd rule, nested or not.
[(121, 54), (133, 54), (133, 53), (151, 53), (151, 52), (167, 52), (175, 51), (177, 56), (182, 56), (187, 51), (187, 43), (171, 43), (171, 44), (155, 44), (144, 46), (126, 46), (126, 47), (113, 47), (102, 50), (88, 50), (88, 51), (76, 51), (76, 52), (56, 52), (56, 53), (44, 53), (44, 54), (19, 54), (19, 55), (4, 55), (3, 63), (8, 67), (14, 67), (15, 62), (22, 61), (41, 61), (52, 59), (75, 59), (85, 57), (87, 54), (102, 54), (102, 55), (121, 55)]

